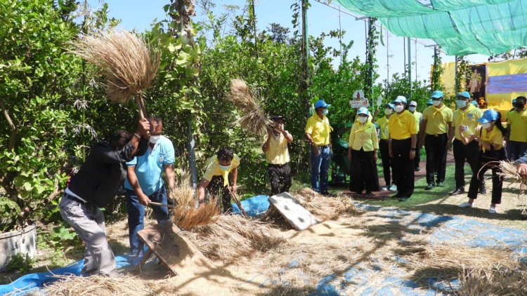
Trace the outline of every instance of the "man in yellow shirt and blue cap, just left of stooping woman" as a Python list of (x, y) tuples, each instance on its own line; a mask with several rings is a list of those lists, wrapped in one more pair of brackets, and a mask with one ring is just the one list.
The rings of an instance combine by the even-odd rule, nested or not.
[[(474, 107), (474, 105), (470, 103), (470, 93), (468, 91), (458, 93), (455, 103), (457, 109), (453, 114), (453, 126), (450, 128), (450, 137), (448, 138), (448, 149), (452, 149), (453, 147), (455, 161), (455, 189), (450, 192), (449, 195), (451, 196), (464, 194), (465, 160), (469, 163), (472, 175), (477, 173), (476, 170), (479, 166), (478, 143), (473, 141), (466, 145), (463, 144), (460, 133), (463, 133), (464, 135), (474, 133), (474, 129), (478, 126), (478, 119), (483, 115), (483, 112), (481, 112), (480, 109)], [(462, 132), (460, 132), (460, 128), (463, 130)], [(482, 189), (480, 187), (480, 193), (482, 193), (481, 191)]]

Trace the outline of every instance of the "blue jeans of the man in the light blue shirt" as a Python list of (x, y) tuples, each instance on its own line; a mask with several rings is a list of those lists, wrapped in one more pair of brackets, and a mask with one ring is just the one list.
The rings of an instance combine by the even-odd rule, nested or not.
[[(150, 201), (156, 203), (167, 203), (167, 191), (162, 186), (158, 191), (148, 196)], [(139, 203), (134, 190), (126, 189), (126, 210), (128, 210), (128, 231), (130, 239), (131, 255), (142, 255), (145, 249), (144, 243), (139, 240), (137, 233), (145, 228), (145, 206)], [(169, 209), (153, 206), (154, 217), (157, 223), (169, 220)]]

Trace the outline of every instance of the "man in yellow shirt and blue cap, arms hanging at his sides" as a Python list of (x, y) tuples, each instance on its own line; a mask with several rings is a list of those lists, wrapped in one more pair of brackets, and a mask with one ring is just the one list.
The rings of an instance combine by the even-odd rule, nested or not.
[[(443, 104), (443, 92), (434, 90), (431, 95), (433, 105), (424, 109), (423, 120), (419, 128), (419, 144), (427, 152), (427, 187), (443, 187), (446, 173), (446, 153), (448, 147), (448, 132), (452, 126), (452, 109)], [(437, 173), (437, 183), (434, 182)]]

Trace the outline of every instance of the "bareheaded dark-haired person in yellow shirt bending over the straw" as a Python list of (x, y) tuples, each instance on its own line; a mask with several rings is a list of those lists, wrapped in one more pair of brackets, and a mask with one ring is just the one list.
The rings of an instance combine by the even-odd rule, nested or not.
[(236, 194), (238, 189), (238, 166), (240, 157), (234, 154), (228, 147), (219, 149), (215, 156), (207, 160), (205, 173), (200, 184), (197, 185), (197, 200), (205, 201), (205, 189), (211, 196), (221, 195), (223, 213), (232, 213), (233, 206), (230, 203), (231, 193)]

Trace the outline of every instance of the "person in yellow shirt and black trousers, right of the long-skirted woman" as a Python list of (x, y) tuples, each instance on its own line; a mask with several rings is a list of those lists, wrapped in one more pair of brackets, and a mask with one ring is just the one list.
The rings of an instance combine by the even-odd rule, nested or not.
[(389, 154), (393, 163), (393, 179), (397, 184), (397, 194), (392, 196), (399, 201), (407, 201), (414, 192), (414, 159), (417, 144), (415, 117), (405, 110), (406, 97), (399, 95), (393, 101), (396, 113), (388, 122)]

